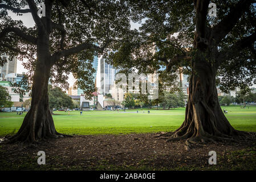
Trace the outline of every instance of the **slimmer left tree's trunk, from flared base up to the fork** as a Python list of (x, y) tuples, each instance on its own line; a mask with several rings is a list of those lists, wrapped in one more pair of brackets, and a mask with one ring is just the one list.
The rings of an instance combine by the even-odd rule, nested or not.
[(18, 133), (9, 139), (10, 142), (32, 143), (41, 139), (63, 137), (55, 130), (48, 104), (51, 63), (50, 51), (47, 49), (48, 41), (46, 40), (47, 38), (42, 37), (38, 42), (38, 59), (33, 77), (31, 108)]

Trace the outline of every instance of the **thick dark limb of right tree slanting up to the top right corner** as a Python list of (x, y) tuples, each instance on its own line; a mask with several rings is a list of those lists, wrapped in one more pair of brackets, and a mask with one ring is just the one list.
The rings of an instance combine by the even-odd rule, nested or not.
[(242, 14), (249, 8), (251, 0), (240, 0), (215, 27), (213, 27), (213, 39), (218, 44), (232, 30), (241, 18)]

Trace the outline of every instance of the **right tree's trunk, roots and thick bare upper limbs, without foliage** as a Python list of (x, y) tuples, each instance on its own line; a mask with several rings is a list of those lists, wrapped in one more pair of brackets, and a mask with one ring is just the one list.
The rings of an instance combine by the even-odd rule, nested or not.
[[(207, 26), (209, 0), (194, 1), (196, 9), (195, 54), (192, 59), (192, 75), (189, 80), (189, 98), (186, 105), (185, 121), (174, 132), (161, 134), (167, 141), (186, 139), (186, 144), (235, 140), (246, 132), (235, 130), (227, 121), (218, 102), (216, 72), (223, 57), (229, 52), (219, 52), (218, 44), (249, 8), (251, 1), (239, 1), (216, 26)], [(239, 51), (255, 42), (255, 34), (248, 36), (231, 47)]]

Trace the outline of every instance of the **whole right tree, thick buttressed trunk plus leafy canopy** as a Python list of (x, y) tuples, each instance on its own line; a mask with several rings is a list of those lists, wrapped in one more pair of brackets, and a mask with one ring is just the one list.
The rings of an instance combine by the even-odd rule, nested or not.
[[(168, 141), (186, 144), (234, 140), (235, 130), (221, 110), (216, 85), (224, 91), (256, 81), (255, 1), (130, 1), (133, 20), (141, 23), (108, 57), (125, 71), (160, 73), (168, 86), (173, 73), (189, 75), (185, 120)], [(210, 4), (211, 3), (211, 4)], [(215, 3), (217, 7), (214, 16)]]

